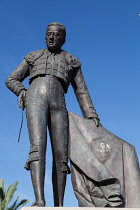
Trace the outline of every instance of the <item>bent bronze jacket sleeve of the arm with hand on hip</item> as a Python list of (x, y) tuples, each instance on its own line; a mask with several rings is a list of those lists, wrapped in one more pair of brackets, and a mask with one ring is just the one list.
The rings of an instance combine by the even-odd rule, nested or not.
[(15, 94), (19, 95), (21, 90), (26, 90), (22, 81), (29, 76), (29, 65), (24, 59), (20, 65), (8, 76), (6, 86)]

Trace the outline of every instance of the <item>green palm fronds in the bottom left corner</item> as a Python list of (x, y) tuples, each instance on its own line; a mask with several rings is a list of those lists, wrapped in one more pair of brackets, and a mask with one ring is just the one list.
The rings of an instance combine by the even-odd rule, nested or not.
[(4, 190), (4, 179), (0, 179), (0, 210), (16, 210), (29, 202), (27, 199), (19, 201), (18, 196), (13, 204), (9, 207), (14, 193), (17, 190), (17, 185), (18, 182), (15, 182), (13, 185), (8, 185), (6, 190)]

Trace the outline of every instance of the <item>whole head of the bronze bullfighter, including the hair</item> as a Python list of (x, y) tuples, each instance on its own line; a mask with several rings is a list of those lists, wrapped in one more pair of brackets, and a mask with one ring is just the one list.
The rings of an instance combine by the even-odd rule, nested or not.
[(46, 29), (46, 45), (49, 50), (60, 50), (65, 43), (66, 28), (61, 23), (50, 23)]

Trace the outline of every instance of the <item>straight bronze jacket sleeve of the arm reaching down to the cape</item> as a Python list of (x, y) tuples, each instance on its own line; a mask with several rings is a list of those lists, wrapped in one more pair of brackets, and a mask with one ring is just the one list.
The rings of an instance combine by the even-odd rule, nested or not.
[(99, 119), (96, 110), (93, 106), (92, 100), (90, 98), (80, 67), (74, 69), (74, 74), (71, 84), (73, 86), (83, 116), (88, 119), (89, 118)]

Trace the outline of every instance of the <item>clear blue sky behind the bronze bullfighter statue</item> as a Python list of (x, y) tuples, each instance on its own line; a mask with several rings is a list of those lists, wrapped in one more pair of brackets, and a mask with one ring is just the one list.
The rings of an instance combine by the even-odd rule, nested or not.
[[(106, 129), (136, 147), (140, 160), (140, 1), (139, 0), (1, 0), (0, 1), (0, 177), (19, 181), (17, 195), (34, 201), (24, 125), (17, 142), (21, 111), (5, 86), (7, 76), (29, 51), (45, 48), (45, 29), (53, 22), (67, 28), (63, 49), (78, 57), (94, 106)], [(24, 82), (28, 87), (28, 79)], [(72, 88), (67, 109), (81, 115)], [(45, 195), (53, 206), (51, 149), (48, 139)], [(68, 176), (65, 206), (77, 206)]]

